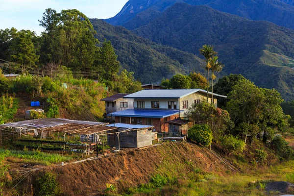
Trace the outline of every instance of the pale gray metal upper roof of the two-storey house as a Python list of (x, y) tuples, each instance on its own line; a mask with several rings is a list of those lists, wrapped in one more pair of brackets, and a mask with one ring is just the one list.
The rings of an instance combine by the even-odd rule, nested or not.
[[(183, 98), (196, 92), (207, 93), (202, 89), (156, 89), (156, 90), (143, 90), (124, 98)], [(208, 92), (211, 95), (211, 92)], [(226, 96), (213, 94), (216, 97), (226, 98)]]

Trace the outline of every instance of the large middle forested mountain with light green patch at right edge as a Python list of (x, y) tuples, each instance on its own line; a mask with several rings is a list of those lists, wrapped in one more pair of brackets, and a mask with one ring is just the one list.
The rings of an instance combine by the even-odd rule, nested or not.
[(276, 88), (294, 98), (294, 30), (266, 21), (249, 21), (204, 5), (176, 3), (134, 30), (158, 44), (199, 54), (215, 46), (223, 72), (241, 73), (259, 87)]

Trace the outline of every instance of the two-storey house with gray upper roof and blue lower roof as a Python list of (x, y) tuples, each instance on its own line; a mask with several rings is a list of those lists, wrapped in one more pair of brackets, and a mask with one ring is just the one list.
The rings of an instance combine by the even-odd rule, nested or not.
[[(213, 94), (214, 104), (217, 106), (218, 98), (226, 98)], [(153, 125), (158, 132), (169, 130), (168, 121), (184, 117), (184, 113), (192, 104), (206, 100), (207, 91), (202, 89), (178, 89), (178, 90), (143, 90), (124, 96), (131, 99), (132, 109), (126, 109), (107, 116), (115, 117), (116, 123)], [(212, 102), (211, 92), (209, 100)]]

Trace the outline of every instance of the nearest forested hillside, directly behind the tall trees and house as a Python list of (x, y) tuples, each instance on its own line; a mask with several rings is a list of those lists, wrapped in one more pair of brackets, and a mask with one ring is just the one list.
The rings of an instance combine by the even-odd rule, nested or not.
[(142, 83), (159, 83), (177, 73), (204, 73), (204, 61), (196, 55), (158, 45), (135, 35), (122, 26), (112, 26), (98, 19), (90, 19), (97, 31), (96, 38), (110, 40), (122, 67), (134, 72)]

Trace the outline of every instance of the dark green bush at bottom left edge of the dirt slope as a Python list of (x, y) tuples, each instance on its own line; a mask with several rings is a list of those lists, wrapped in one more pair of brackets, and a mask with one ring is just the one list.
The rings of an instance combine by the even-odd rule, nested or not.
[(56, 176), (51, 173), (45, 173), (39, 180), (37, 186), (38, 196), (57, 196), (61, 190), (60, 185), (56, 181)]

